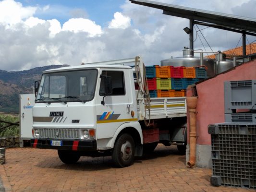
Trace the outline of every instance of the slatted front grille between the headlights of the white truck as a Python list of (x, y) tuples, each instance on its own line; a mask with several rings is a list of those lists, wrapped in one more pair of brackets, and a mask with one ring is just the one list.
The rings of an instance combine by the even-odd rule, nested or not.
[(39, 128), (38, 131), (40, 138), (80, 139), (79, 129)]

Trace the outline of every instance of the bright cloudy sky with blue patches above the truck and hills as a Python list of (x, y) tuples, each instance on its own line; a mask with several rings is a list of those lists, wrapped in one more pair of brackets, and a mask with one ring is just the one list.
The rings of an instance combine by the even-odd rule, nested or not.
[[(154, 1), (256, 18), (256, 0)], [(187, 19), (129, 0), (0, 0), (0, 70), (75, 66), (137, 55), (146, 65), (160, 65), (189, 47), (186, 26)], [(242, 46), (238, 33), (195, 25), (194, 34), (195, 49)], [(246, 37), (246, 44), (256, 40)]]

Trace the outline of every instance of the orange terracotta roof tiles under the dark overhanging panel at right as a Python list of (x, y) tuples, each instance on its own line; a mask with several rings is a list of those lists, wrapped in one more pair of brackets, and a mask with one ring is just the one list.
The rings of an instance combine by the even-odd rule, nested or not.
[[(239, 55), (243, 55), (243, 46), (241, 47), (237, 47), (237, 48), (232, 48), (226, 51), (222, 51), (222, 53), (226, 53), (227, 56), (228, 55), (233, 55), (233, 56), (239, 56)], [(252, 43), (252, 44), (248, 44), (246, 45), (246, 54), (247, 55), (251, 55), (256, 53), (256, 43)], [(207, 56), (207, 58), (209, 59), (215, 59), (215, 55), (209, 55)]]

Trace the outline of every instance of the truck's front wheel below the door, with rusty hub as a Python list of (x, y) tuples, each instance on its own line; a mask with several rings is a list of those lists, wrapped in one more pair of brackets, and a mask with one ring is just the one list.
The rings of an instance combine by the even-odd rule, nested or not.
[(134, 162), (134, 139), (124, 133), (116, 141), (112, 151), (112, 159), (119, 168), (128, 167)]

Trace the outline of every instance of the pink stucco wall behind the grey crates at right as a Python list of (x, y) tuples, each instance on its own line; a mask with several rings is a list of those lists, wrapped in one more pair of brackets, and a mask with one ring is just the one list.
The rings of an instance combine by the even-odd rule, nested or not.
[[(224, 81), (256, 79), (256, 60), (196, 85), (196, 144), (211, 144), (208, 124), (224, 122)], [(188, 95), (187, 95), (188, 96)], [(188, 134), (189, 136), (189, 134)], [(188, 138), (189, 139), (189, 138)]]

